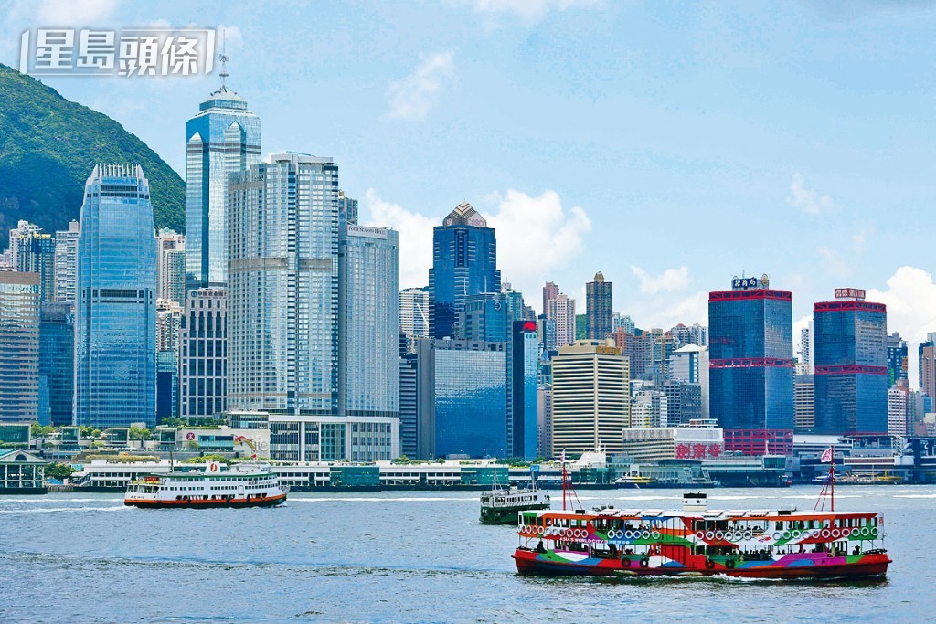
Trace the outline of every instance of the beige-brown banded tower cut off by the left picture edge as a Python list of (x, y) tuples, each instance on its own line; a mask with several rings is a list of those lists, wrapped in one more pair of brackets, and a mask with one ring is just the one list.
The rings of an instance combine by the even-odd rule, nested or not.
[(39, 415), (39, 283), (38, 273), (0, 271), (0, 422)]

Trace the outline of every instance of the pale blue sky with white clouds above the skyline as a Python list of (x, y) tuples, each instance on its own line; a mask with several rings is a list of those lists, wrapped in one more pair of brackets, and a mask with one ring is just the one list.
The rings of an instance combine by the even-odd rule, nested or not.
[[(401, 231), (427, 283), (461, 201), (504, 281), (542, 305), (602, 271), (637, 327), (707, 323), (708, 293), (767, 273), (795, 337), (837, 287), (936, 331), (936, 6), (799, 0), (0, 0), (0, 62), (39, 27), (224, 29), (263, 152), (335, 158), (363, 225)], [(184, 125), (220, 79), (43, 79), (184, 175)], [(2, 106), (2, 103), (0, 103)]]

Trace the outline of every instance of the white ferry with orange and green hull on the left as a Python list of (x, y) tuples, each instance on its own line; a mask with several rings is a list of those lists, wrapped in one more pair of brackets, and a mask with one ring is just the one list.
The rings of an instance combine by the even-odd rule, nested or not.
[(273, 507), (286, 500), (288, 486), (266, 464), (209, 462), (205, 472), (148, 474), (126, 488), (124, 505), (161, 507)]

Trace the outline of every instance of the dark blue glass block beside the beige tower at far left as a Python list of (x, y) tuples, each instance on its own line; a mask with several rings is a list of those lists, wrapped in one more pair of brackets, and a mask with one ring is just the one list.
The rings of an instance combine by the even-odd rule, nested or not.
[(55, 427), (71, 425), (75, 390), (75, 315), (70, 303), (44, 303), (39, 310), (40, 402)]

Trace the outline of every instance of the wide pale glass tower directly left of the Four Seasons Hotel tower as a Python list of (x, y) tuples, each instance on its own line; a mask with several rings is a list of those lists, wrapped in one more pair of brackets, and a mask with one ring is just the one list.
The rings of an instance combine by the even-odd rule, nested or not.
[(227, 232), (227, 408), (337, 415), (338, 166), (285, 153), (232, 174)]

